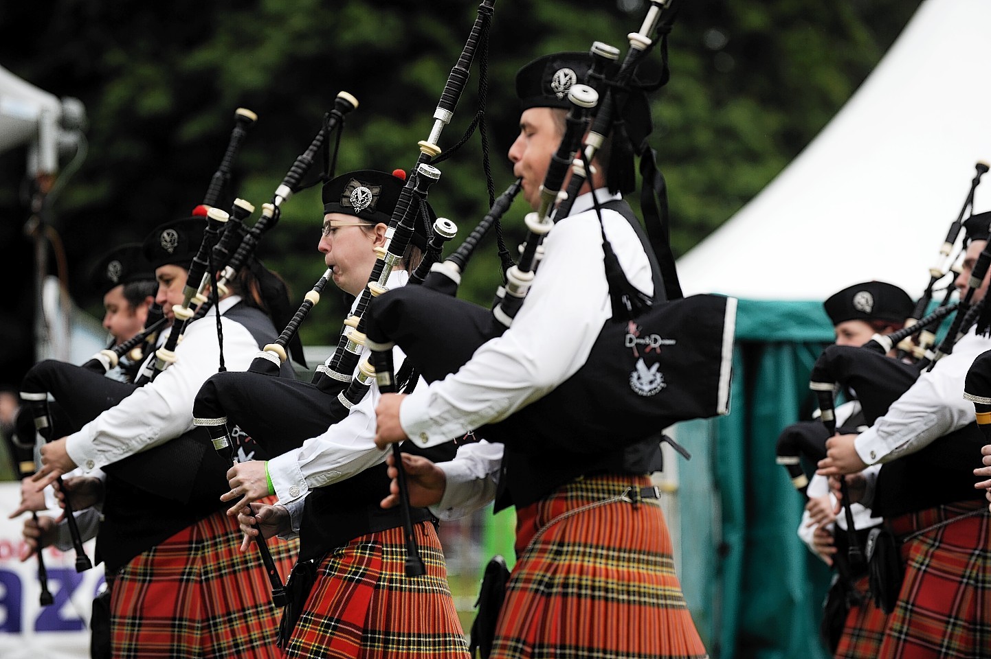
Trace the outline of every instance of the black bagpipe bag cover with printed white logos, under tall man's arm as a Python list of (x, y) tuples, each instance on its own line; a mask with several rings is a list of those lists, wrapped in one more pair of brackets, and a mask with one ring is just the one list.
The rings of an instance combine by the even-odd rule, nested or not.
[[(606, 321), (577, 373), (478, 434), (521, 450), (539, 436), (545, 450), (591, 453), (726, 414), (735, 302), (696, 295), (657, 303), (635, 323)], [(369, 338), (396, 342), (427, 382), (457, 371), (497, 336), (491, 319), (488, 310), (422, 286), (373, 299), (366, 316)]]

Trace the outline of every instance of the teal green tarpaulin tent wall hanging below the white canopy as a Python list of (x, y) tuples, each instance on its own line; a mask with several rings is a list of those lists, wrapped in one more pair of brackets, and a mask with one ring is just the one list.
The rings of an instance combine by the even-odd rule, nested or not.
[(796, 534), (804, 501), (775, 463), (778, 434), (815, 409), (809, 372), (832, 327), (816, 302), (740, 300), (730, 414), (679, 424), (680, 577), (718, 659), (826, 658), (830, 573)]

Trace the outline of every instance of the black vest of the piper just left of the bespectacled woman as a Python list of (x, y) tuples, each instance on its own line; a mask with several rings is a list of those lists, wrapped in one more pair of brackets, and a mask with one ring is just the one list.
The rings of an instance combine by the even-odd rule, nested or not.
[[(260, 309), (239, 303), (223, 316), (251, 332), (259, 349), (278, 336)], [(280, 377), (295, 377), (288, 361)], [(205, 427), (104, 467), (106, 503), (96, 538), (97, 561), (116, 571), (181, 529), (226, 508), (220, 495), (229, 490), (230, 467), (213, 449)]]

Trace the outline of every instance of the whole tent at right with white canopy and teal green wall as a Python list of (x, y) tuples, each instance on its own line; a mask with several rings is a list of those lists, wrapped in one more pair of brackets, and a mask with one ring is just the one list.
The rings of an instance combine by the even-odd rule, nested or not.
[[(686, 295), (740, 299), (730, 415), (678, 427), (695, 452), (681, 465), (682, 546), (709, 547), (683, 585), (715, 605), (696, 620), (718, 656), (824, 656), (826, 570), (796, 541), (802, 501), (775, 442), (815, 408), (809, 371), (832, 340), (822, 301), (872, 279), (918, 299), (929, 283), (975, 164), (991, 158), (989, 31), (991, 3), (923, 2), (823, 132), (678, 261)], [(974, 211), (987, 210), (979, 186)]]

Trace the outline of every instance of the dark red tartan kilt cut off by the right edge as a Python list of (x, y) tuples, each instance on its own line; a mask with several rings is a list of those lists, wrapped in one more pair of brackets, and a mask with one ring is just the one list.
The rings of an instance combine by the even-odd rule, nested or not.
[(982, 501), (893, 518), (904, 536), (967, 513), (902, 544), (905, 579), (881, 657), (991, 656), (991, 517)]

